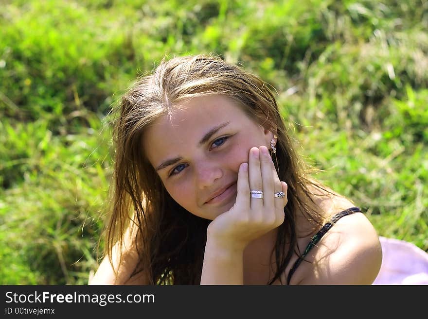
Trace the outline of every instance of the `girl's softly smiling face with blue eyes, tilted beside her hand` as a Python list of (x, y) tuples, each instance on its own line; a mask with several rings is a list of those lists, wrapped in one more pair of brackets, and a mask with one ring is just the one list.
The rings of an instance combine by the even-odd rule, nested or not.
[(235, 203), (238, 169), (250, 149), (270, 148), (272, 137), (232, 99), (209, 95), (155, 121), (143, 148), (171, 197), (192, 214), (214, 219)]

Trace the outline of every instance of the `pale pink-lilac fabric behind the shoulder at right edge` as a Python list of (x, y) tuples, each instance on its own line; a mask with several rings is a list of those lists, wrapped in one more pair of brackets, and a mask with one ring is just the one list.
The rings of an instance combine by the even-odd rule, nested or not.
[(382, 266), (373, 285), (428, 285), (428, 253), (416, 245), (379, 236)]

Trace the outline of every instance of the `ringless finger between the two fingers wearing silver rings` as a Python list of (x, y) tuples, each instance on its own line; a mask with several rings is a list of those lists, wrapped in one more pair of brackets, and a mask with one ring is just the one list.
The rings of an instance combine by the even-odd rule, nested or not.
[(263, 206), (266, 212), (272, 212), (275, 209), (275, 197), (272, 174), (272, 159), (266, 146), (261, 146), (260, 150), (260, 170), (263, 183)]

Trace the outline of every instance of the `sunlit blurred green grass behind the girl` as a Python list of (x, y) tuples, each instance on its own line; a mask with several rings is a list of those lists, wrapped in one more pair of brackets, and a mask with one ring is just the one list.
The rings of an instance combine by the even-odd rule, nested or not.
[(165, 54), (260, 75), (317, 177), (428, 250), (427, 0), (2, 0), (0, 26), (0, 284), (87, 283), (107, 112)]

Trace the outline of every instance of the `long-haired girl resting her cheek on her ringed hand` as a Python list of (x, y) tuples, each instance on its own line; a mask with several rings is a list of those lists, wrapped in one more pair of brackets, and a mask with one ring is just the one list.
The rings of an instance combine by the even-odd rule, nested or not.
[(123, 96), (105, 257), (90, 284), (364, 285), (369, 220), (306, 173), (267, 85), (212, 56)]

